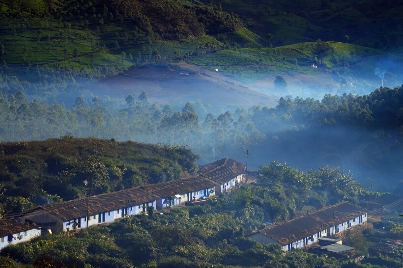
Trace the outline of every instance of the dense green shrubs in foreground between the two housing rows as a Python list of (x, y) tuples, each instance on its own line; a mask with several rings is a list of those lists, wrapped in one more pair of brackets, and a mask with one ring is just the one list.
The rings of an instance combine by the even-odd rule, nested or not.
[[(348, 174), (330, 167), (302, 173), (277, 162), (262, 168), (262, 185), (233, 189), (230, 194), (214, 199), (211, 206), (189, 206), (153, 216), (131, 216), (69, 236), (58, 233), (38, 237), (28, 244), (6, 247), (0, 254), (3, 259), (8, 258), (8, 262), (19, 262), (20, 267), (35, 264), (36, 267), (268, 268), (300, 267), (301, 263), (307, 268), (350, 267), (347, 259), (336, 261), (300, 250), (283, 253), (278, 245), (265, 245), (244, 237), (265, 220), (283, 220), (304, 213), (296, 211), (295, 205), (309, 205), (311, 201), (307, 196), (319, 185), (328, 183), (326, 180), (338, 181)], [(322, 174), (326, 172), (328, 177), (324, 178)], [(276, 182), (269, 179), (277, 176), (280, 179)], [(305, 188), (291, 195), (289, 183), (298, 180), (304, 181)], [(345, 187), (347, 192), (357, 189), (358, 196), (369, 197), (371, 194), (353, 181)], [(337, 192), (329, 192), (328, 197), (334, 201), (346, 199), (343, 193)], [(317, 209), (322, 205), (309, 206)], [(390, 261), (394, 262), (394, 259)]]

